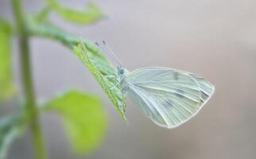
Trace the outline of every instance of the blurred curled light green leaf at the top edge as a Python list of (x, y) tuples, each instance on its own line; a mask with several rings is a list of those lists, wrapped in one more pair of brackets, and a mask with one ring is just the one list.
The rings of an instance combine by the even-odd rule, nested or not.
[(67, 21), (72, 21), (81, 25), (91, 24), (103, 17), (103, 13), (94, 3), (87, 3), (86, 10), (71, 10), (62, 6), (57, 0), (45, 0), (52, 10)]

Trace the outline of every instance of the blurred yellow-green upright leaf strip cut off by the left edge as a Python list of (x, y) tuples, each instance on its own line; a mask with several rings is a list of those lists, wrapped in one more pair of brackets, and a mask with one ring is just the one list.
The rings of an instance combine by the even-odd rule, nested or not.
[(10, 99), (15, 93), (11, 67), (12, 27), (0, 19), (0, 101)]

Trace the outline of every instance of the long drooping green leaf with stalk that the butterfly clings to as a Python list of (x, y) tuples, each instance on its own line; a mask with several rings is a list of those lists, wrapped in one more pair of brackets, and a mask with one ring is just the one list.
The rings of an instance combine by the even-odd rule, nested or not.
[[(74, 37), (64, 30), (50, 24), (41, 24), (35, 21), (29, 22), (29, 33), (32, 36), (47, 37), (55, 41), (60, 41), (63, 45), (72, 49), (76, 56), (80, 58), (83, 64), (89, 68), (89, 71), (95, 76), (95, 79), (103, 87), (114, 107), (121, 114), (122, 118), (125, 118), (126, 100), (122, 91), (116, 87), (110, 90), (117, 81), (104, 78), (104, 76), (117, 76), (117, 70), (113, 64), (102, 52), (99, 52), (98, 46), (87, 39), (81, 39)], [(86, 45), (86, 47), (85, 47)]]

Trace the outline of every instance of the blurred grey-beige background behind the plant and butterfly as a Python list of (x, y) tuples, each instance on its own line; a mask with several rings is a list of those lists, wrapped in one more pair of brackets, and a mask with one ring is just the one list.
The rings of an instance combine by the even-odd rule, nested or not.
[[(44, 4), (24, 0), (29, 13)], [(84, 8), (84, 0), (60, 1)], [(215, 85), (208, 104), (189, 122), (161, 128), (127, 101), (124, 122), (91, 74), (70, 50), (48, 39), (31, 41), (37, 99), (45, 101), (68, 88), (80, 88), (103, 98), (109, 129), (103, 144), (89, 159), (213, 159), (256, 156), (256, 1), (254, 0), (130, 0), (93, 1), (107, 18), (80, 26), (52, 15), (62, 28), (91, 41), (108, 41), (130, 71), (165, 66), (194, 72)], [(9, 0), (0, 14), (13, 19)], [(14, 45), (15, 79), (20, 83)], [(9, 110), (2, 110), (5, 114)], [(42, 118), (49, 158), (74, 158), (58, 116)], [(10, 158), (33, 158), (30, 134), (11, 147)]]

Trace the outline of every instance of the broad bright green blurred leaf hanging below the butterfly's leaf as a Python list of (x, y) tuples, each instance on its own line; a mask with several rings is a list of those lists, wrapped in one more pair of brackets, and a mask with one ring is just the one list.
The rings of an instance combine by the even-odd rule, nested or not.
[(107, 116), (102, 103), (93, 95), (69, 91), (46, 103), (45, 109), (63, 117), (77, 153), (95, 149), (106, 134)]

